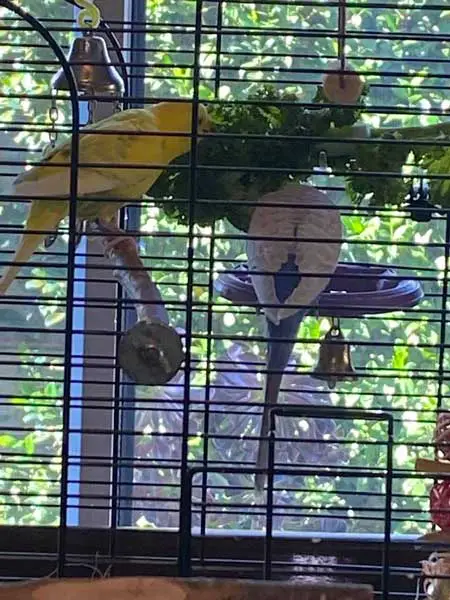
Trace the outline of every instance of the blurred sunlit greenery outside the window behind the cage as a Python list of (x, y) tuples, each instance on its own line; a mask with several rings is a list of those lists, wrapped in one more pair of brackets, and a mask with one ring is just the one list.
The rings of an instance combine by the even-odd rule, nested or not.
[[(27, 0), (21, 5), (35, 16), (72, 18), (72, 7), (60, 0)], [(428, 8), (428, 5), (430, 7)], [(12, 17), (0, 9), (2, 17)], [(220, 12), (220, 14), (219, 14)], [(445, 90), (449, 75), (449, 49), (441, 41), (408, 40), (407, 34), (449, 33), (449, 11), (433, 9), (426, 0), (416, 5), (378, 8), (370, 2), (348, 9), (350, 62), (370, 83), (373, 110), (364, 120), (374, 126), (427, 125), (439, 117), (428, 114), (449, 107)], [(148, 0), (145, 72), (146, 94), (154, 98), (192, 94), (192, 59), (195, 2)], [(217, 59), (217, 23), (223, 29), (220, 60)], [(15, 23), (17, 28), (18, 21)], [(323, 69), (336, 56), (337, 8), (328, 5), (252, 4), (208, 2), (203, 4), (205, 33), (201, 46), (200, 96), (242, 98), (262, 81), (295, 91), (308, 102), (320, 75), (301, 69)], [(67, 22), (64, 23), (67, 26)], [(269, 31), (264, 31), (268, 29)], [(289, 29), (290, 31), (286, 31)], [(279, 31), (275, 34), (274, 31)], [(365, 35), (373, 32), (376, 35)], [(401, 34), (405, 34), (402, 37)], [(68, 47), (70, 32), (55, 33)], [(0, 30), (0, 60), (14, 59), (2, 73), (4, 93), (48, 92), (56, 70), (24, 66), (33, 59), (53, 60), (38, 35)], [(5, 63), (6, 64), (6, 63)], [(220, 81), (216, 68), (220, 66)], [(3, 69), (3, 67), (2, 67)], [(24, 71), (28, 70), (29, 73)], [(297, 72), (295, 72), (297, 70)], [(432, 75), (432, 76), (431, 76)], [(2, 160), (35, 160), (47, 142), (49, 101), (38, 98), (0, 98), (2, 128), (12, 122), (21, 131), (4, 132)], [(379, 107), (378, 109), (376, 107)], [(389, 107), (395, 112), (389, 114)], [(422, 114), (408, 114), (420, 107)], [(404, 108), (404, 112), (402, 112)], [(70, 111), (60, 106), (61, 124), (70, 124)], [(23, 131), (22, 124), (40, 131)], [(37, 124), (39, 124), (37, 126)], [(11, 158), (14, 157), (14, 158)], [(5, 184), (14, 168), (0, 166)], [(18, 172), (16, 169), (15, 172)], [(316, 183), (327, 185), (326, 179)], [(333, 185), (342, 185), (334, 179)], [(343, 193), (334, 195), (343, 206)], [(226, 199), (224, 199), (226, 200)], [(17, 243), (12, 228), (23, 223), (24, 204), (5, 199), (1, 203), (0, 250)], [(446, 330), (440, 312), (445, 272), (445, 221), (414, 223), (401, 213), (380, 214), (343, 209), (347, 243), (342, 261), (371, 262), (397, 268), (403, 275), (420, 278), (425, 298), (413, 311), (345, 319), (343, 331), (352, 342), (353, 362), (362, 376), (340, 384), (329, 393), (304, 372), (317, 360), (318, 342), (329, 328), (327, 319), (307, 318), (295, 348), (298, 375), (286, 378), (284, 400), (342, 407), (386, 409), (395, 416), (394, 524), (396, 534), (419, 534), (428, 528), (430, 481), (418, 479), (411, 470), (417, 455), (432, 456), (435, 411), (446, 407), (448, 386), (438, 377), (448, 368), (440, 363), (440, 342)], [(182, 303), (187, 294), (187, 229), (170, 221), (154, 206), (145, 205), (140, 216), (141, 253), (170, 308), (172, 323), (185, 327)], [(165, 233), (164, 237), (154, 236)], [(212, 280), (220, 270), (245, 261), (245, 240), (227, 238), (237, 231), (227, 222), (214, 229), (196, 227), (194, 312), (191, 378), (190, 460), (200, 464), (251, 466), (257, 435), (257, 410), (262, 400), (262, 377), (256, 374), (264, 360), (261, 316), (232, 306), (212, 294)], [(2, 304), (0, 330), (5, 336), (1, 369), (10, 373), (0, 392), (0, 523), (55, 525), (59, 518), (59, 473), (62, 423), (62, 357), (64, 349), (65, 269), (67, 239), (63, 236), (52, 253), (36, 256), (35, 265), (23, 270), (16, 283), (19, 294), (35, 301)], [(207, 306), (214, 298), (214, 308)], [(172, 304), (171, 304), (172, 303)], [(181, 305), (180, 305), (181, 303)], [(13, 311), (9, 312), (8, 311)], [(16, 321), (17, 324), (16, 324)], [(28, 333), (13, 331), (20, 327)], [(40, 327), (46, 330), (39, 332)], [(256, 339), (252, 340), (252, 336)], [(375, 345), (375, 342), (383, 345)], [(255, 363), (253, 367), (251, 363)], [(250, 366), (248, 366), (250, 363)], [(246, 366), (247, 365), (247, 366)], [(182, 428), (183, 375), (164, 389), (136, 387), (134, 503), (132, 522), (151, 528), (177, 526), (179, 458)], [(5, 385), (5, 382), (2, 382)], [(239, 403), (245, 403), (239, 406)], [(234, 405), (234, 406), (233, 406)], [(277, 459), (283, 463), (341, 464), (382, 468), (386, 439), (380, 423), (348, 420), (292, 419), (283, 432), (295, 443), (280, 444)], [(208, 436), (205, 436), (208, 433)], [(337, 445), (336, 440), (345, 441)], [(207, 485), (195, 490), (195, 498), (207, 503), (206, 513), (197, 509), (194, 522), (215, 529), (254, 529), (263, 524), (252, 491), (252, 477), (210, 475)], [(332, 531), (380, 533), (383, 531), (382, 477), (283, 477), (277, 481), (276, 528), (282, 531)], [(245, 505), (245, 508), (243, 508)], [(206, 514), (206, 516), (205, 516)]]

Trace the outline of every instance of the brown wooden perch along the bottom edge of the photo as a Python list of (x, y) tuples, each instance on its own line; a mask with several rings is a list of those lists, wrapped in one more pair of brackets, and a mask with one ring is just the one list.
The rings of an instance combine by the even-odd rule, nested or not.
[(0, 600), (372, 600), (369, 585), (113, 577), (0, 586)]

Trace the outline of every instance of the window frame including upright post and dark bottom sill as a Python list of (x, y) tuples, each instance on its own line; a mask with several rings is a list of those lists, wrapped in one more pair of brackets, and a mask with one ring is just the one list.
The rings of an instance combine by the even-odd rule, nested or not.
[[(145, 0), (97, 0), (102, 16), (106, 22), (109, 21), (139, 21), (142, 19), (142, 11), (145, 15), (146, 2)], [(131, 16), (131, 18), (130, 18)], [(145, 32), (138, 31), (126, 32), (124, 35), (118, 34), (120, 41), (125, 47), (130, 48), (126, 51), (126, 60), (130, 64), (134, 62), (145, 62), (139, 60), (139, 54), (145, 53)], [(131, 67), (130, 78), (131, 96), (139, 97), (143, 95), (144, 87), (144, 67)], [(136, 72), (137, 71), (137, 72)], [(134, 104), (137, 106), (137, 104)], [(108, 104), (108, 108), (111, 105)], [(106, 111), (106, 107), (99, 107), (99, 111)], [(130, 229), (137, 229), (139, 223), (139, 209), (133, 207), (127, 209), (125, 213), (124, 225)], [(89, 305), (90, 300), (98, 295), (98, 280), (104, 279), (105, 291), (101, 293), (103, 298), (110, 297), (112, 302), (117, 298), (117, 284), (111, 282), (111, 270), (109, 268), (99, 269), (102, 261), (99, 260), (96, 253), (98, 250), (92, 246), (92, 241), (86, 242), (86, 263), (84, 269), (95, 268), (96, 281), (90, 282), (88, 279), (85, 282), (85, 296), (87, 306), (84, 309), (84, 329), (88, 331), (115, 331), (116, 330), (116, 308), (111, 305), (110, 309), (104, 306), (96, 307), (95, 304)], [(125, 328), (131, 326), (134, 322), (135, 314), (132, 309), (123, 311), (122, 324)], [(98, 356), (100, 354), (108, 354), (113, 361), (116, 355), (115, 338), (111, 335), (102, 335), (97, 333), (83, 333), (83, 354), (85, 357)], [(103, 377), (103, 373), (105, 377)], [(128, 457), (133, 457), (132, 450), (134, 448), (133, 436), (127, 436), (121, 444), (119, 431), (115, 430), (114, 425), (120, 423), (125, 425), (125, 429), (130, 428), (130, 419), (133, 419), (133, 411), (127, 410), (121, 413), (122, 402), (114, 400), (114, 388), (116, 385), (121, 386), (121, 397), (124, 402), (133, 402), (134, 387), (127, 385), (126, 378), (119, 383), (115, 381), (117, 377), (116, 369), (111, 363), (111, 367), (105, 369), (96, 368), (96, 377), (99, 380), (105, 380), (107, 383), (99, 386), (98, 383), (89, 383), (83, 381), (81, 384), (83, 398), (92, 398), (95, 396), (110, 397), (111, 402), (104, 402), (104, 409), (89, 409), (84, 406), (81, 409), (81, 429), (89, 431), (89, 429), (108, 431), (107, 434), (102, 434), (101, 439), (98, 436), (80, 435), (80, 459), (83, 462), (83, 456), (112, 459), (112, 466), (105, 465), (102, 467), (93, 467), (91, 464), (81, 464), (79, 468), (79, 497), (91, 498), (90, 506), (78, 507), (78, 523), (76, 526), (72, 519), (69, 520), (68, 528), (68, 562), (71, 560), (78, 562), (81, 558), (92, 557), (100, 553), (105, 557), (105, 564), (110, 561), (111, 557), (116, 555), (121, 559), (115, 566), (115, 574), (148, 574), (148, 566), (152, 565), (152, 569), (158, 574), (175, 575), (177, 574), (177, 548), (179, 544), (179, 534), (176, 531), (148, 531), (148, 530), (128, 530), (118, 529), (118, 527), (131, 527), (131, 517), (128, 506), (116, 506), (116, 511), (111, 509), (109, 504), (111, 498), (117, 503), (117, 494), (114, 492), (114, 485), (117, 486), (119, 496), (127, 495), (125, 490), (132, 488), (132, 471), (133, 467), (127, 467), (125, 476), (123, 471), (119, 474), (117, 460), (115, 460), (114, 452), (125, 452)], [(100, 387), (100, 392), (99, 392)], [(77, 410), (77, 409), (76, 409)], [(128, 423), (126, 423), (126, 419)], [(71, 418), (72, 421), (72, 418)], [(74, 425), (71, 423), (71, 428)], [(122, 427), (121, 427), (122, 429)], [(76, 452), (72, 452), (76, 454)], [(107, 461), (103, 461), (106, 463)], [(122, 467), (123, 468), (123, 467)], [(116, 475), (114, 475), (114, 471)], [(131, 472), (131, 480), (130, 480)], [(72, 472), (71, 472), (72, 473)], [(116, 483), (114, 483), (116, 481)], [(70, 489), (70, 488), (69, 488)], [(95, 498), (97, 496), (97, 499)], [(128, 494), (129, 497), (129, 494)], [(102, 498), (108, 498), (102, 500)], [(106, 504), (105, 504), (106, 503)], [(70, 510), (70, 508), (68, 509)], [(122, 512), (124, 511), (124, 512)], [(117, 519), (112, 519), (112, 513), (117, 514)], [(71, 522), (72, 521), (72, 522)], [(43, 555), (42, 561), (37, 560), (37, 571), (48, 573), (46, 568), (47, 562), (54, 564), (55, 556), (57, 555), (57, 528), (46, 527), (0, 527), (2, 532), (2, 554), (16, 555), (15, 561), (17, 569), (14, 569), (14, 575), (20, 576), (23, 572), (24, 577), (32, 576), (30, 574), (31, 554), (40, 552)], [(400, 539), (400, 538), (405, 539)], [(223, 573), (228, 576), (236, 576), (236, 571), (239, 574), (246, 576), (258, 577), (261, 574), (261, 561), (264, 552), (264, 536), (254, 532), (208, 532), (206, 539), (198, 535), (193, 535), (193, 554), (200, 554), (201, 546), (205, 544), (207, 547), (216, 547), (220, 551), (220, 556), (228, 557), (228, 567), (220, 566), (202, 567), (205, 573)], [(359, 558), (361, 547), (367, 551), (366, 560), (370, 561), (371, 565), (381, 565), (381, 548), (382, 536), (362, 536), (362, 535), (342, 535), (332, 536), (327, 534), (318, 534), (312, 538), (311, 534), (287, 534), (274, 536), (274, 557), (276, 560), (282, 560), (283, 556), (289, 554), (311, 553), (317, 551), (318, 545), (324, 546), (325, 551), (337, 556), (355, 556)], [(422, 546), (416, 541), (414, 536), (393, 536), (391, 541), (392, 556), (402, 557), (401, 563), (395, 562), (394, 565), (404, 567), (408, 570), (418, 570), (417, 550)], [(422, 550), (419, 550), (422, 553)], [(207, 553), (206, 553), (207, 554)], [(428, 552), (425, 552), (421, 558), (426, 558)], [(75, 557), (75, 558), (74, 558)], [(257, 558), (258, 557), (258, 558)], [(147, 559), (147, 561), (146, 561)], [(248, 568), (236, 567), (232, 565), (233, 560), (248, 562)], [(219, 556), (217, 557), (219, 560)], [(17, 562), (16, 562), (17, 561)], [(153, 561), (153, 562), (152, 562)], [(5, 561), (5, 564), (9, 564)], [(34, 563), (33, 563), (34, 564)], [(109, 563), (108, 563), (109, 564)], [(5, 567), (8, 570), (9, 567)], [(22, 571), (23, 569), (23, 571)], [(74, 573), (81, 573), (82, 568), (74, 567)], [(0, 573), (3, 567), (0, 568)], [(70, 568), (69, 568), (70, 572)], [(409, 571), (408, 571), (409, 572)], [(258, 575), (259, 573), (259, 575)], [(85, 571), (83, 572), (85, 575)]]

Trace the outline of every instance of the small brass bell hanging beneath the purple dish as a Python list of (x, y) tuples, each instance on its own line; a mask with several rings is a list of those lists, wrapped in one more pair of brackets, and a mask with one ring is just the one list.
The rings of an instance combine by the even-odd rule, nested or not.
[(315, 379), (326, 381), (333, 389), (338, 381), (355, 381), (358, 377), (353, 369), (350, 344), (342, 334), (339, 321), (332, 322), (319, 350), (319, 361), (312, 373)]

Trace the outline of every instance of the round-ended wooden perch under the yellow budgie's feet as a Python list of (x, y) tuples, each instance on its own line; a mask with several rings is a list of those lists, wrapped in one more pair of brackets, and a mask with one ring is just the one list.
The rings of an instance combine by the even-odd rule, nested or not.
[(100, 234), (105, 257), (115, 267), (114, 277), (134, 301), (137, 323), (125, 331), (118, 345), (118, 361), (136, 383), (163, 385), (183, 361), (180, 336), (169, 325), (169, 316), (158, 288), (139, 257), (136, 241), (112, 223), (89, 223), (88, 233)]

